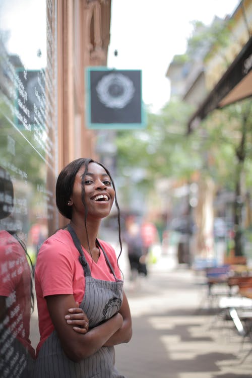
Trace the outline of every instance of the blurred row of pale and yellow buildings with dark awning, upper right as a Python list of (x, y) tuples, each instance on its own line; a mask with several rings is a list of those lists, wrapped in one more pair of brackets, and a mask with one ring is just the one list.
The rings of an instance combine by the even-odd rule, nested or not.
[(195, 106), (195, 113), (188, 120), (189, 131), (215, 108), (252, 95), (251, 2), (242, 0), (232, 15), (213, 21), (215, 27), (225, 25), (227, 35), (223, 43), (211, 43), (209, 39), (194, 51), (193, 58), (175, 55), (168, 67), (166, 77), (171, 82), (171, 95)]

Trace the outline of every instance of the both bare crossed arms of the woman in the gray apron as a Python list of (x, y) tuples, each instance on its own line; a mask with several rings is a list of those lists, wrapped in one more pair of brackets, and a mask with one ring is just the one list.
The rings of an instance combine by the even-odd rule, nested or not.
[(125, 293), (120, 310), (90, 330), (88, 318), (78, 308), (72, 294), (49, 295), (45, 299), (62, 348), (75, 362), (94, 354), (102, 346), (128, 343), (132, 337), (131, 312)]

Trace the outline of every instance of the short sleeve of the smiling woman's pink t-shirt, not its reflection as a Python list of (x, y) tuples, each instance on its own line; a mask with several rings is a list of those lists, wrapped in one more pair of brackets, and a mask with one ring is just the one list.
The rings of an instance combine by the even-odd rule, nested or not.
[(47, 239), (39, 250), (36, 279), (42, 296), (73, 294), (75, 272), (71, 247), (55, 239)]

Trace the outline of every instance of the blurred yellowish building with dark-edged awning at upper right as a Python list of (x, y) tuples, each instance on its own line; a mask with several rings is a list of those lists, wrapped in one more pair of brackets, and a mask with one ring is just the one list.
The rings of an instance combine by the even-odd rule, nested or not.
[[(228, 23), (225, 45), (212, 45), (204, 58), (205, 96), (188, 121), (192, 131), (209, 112), (252, 95), (252, 3), (242, 0)], [(184, 99), (188, 93), (183, 94)]]

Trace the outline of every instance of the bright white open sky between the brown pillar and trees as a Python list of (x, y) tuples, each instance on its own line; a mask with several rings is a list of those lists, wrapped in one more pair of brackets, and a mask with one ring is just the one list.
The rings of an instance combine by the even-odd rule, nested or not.
[[(239, 0), (112, 0), (108, 68), (142, 70), (143, 101), (158, 112), (169, 101), (165, 77), (183, 54), (194, 20), (209, 25), (225, 18)], [(114, 56), (114, 50), (118, 55)]]

